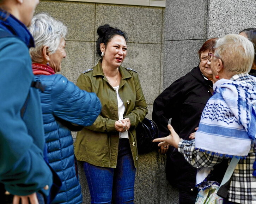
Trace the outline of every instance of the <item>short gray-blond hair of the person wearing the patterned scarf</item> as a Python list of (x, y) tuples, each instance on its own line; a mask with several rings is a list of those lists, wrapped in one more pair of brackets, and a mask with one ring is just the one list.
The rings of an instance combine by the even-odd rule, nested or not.
[(216, 41), (214, 55), (222, 60), (226, 72), (248, 73), (254, 60), (254, 47), (246, 37), (230, 34)]

